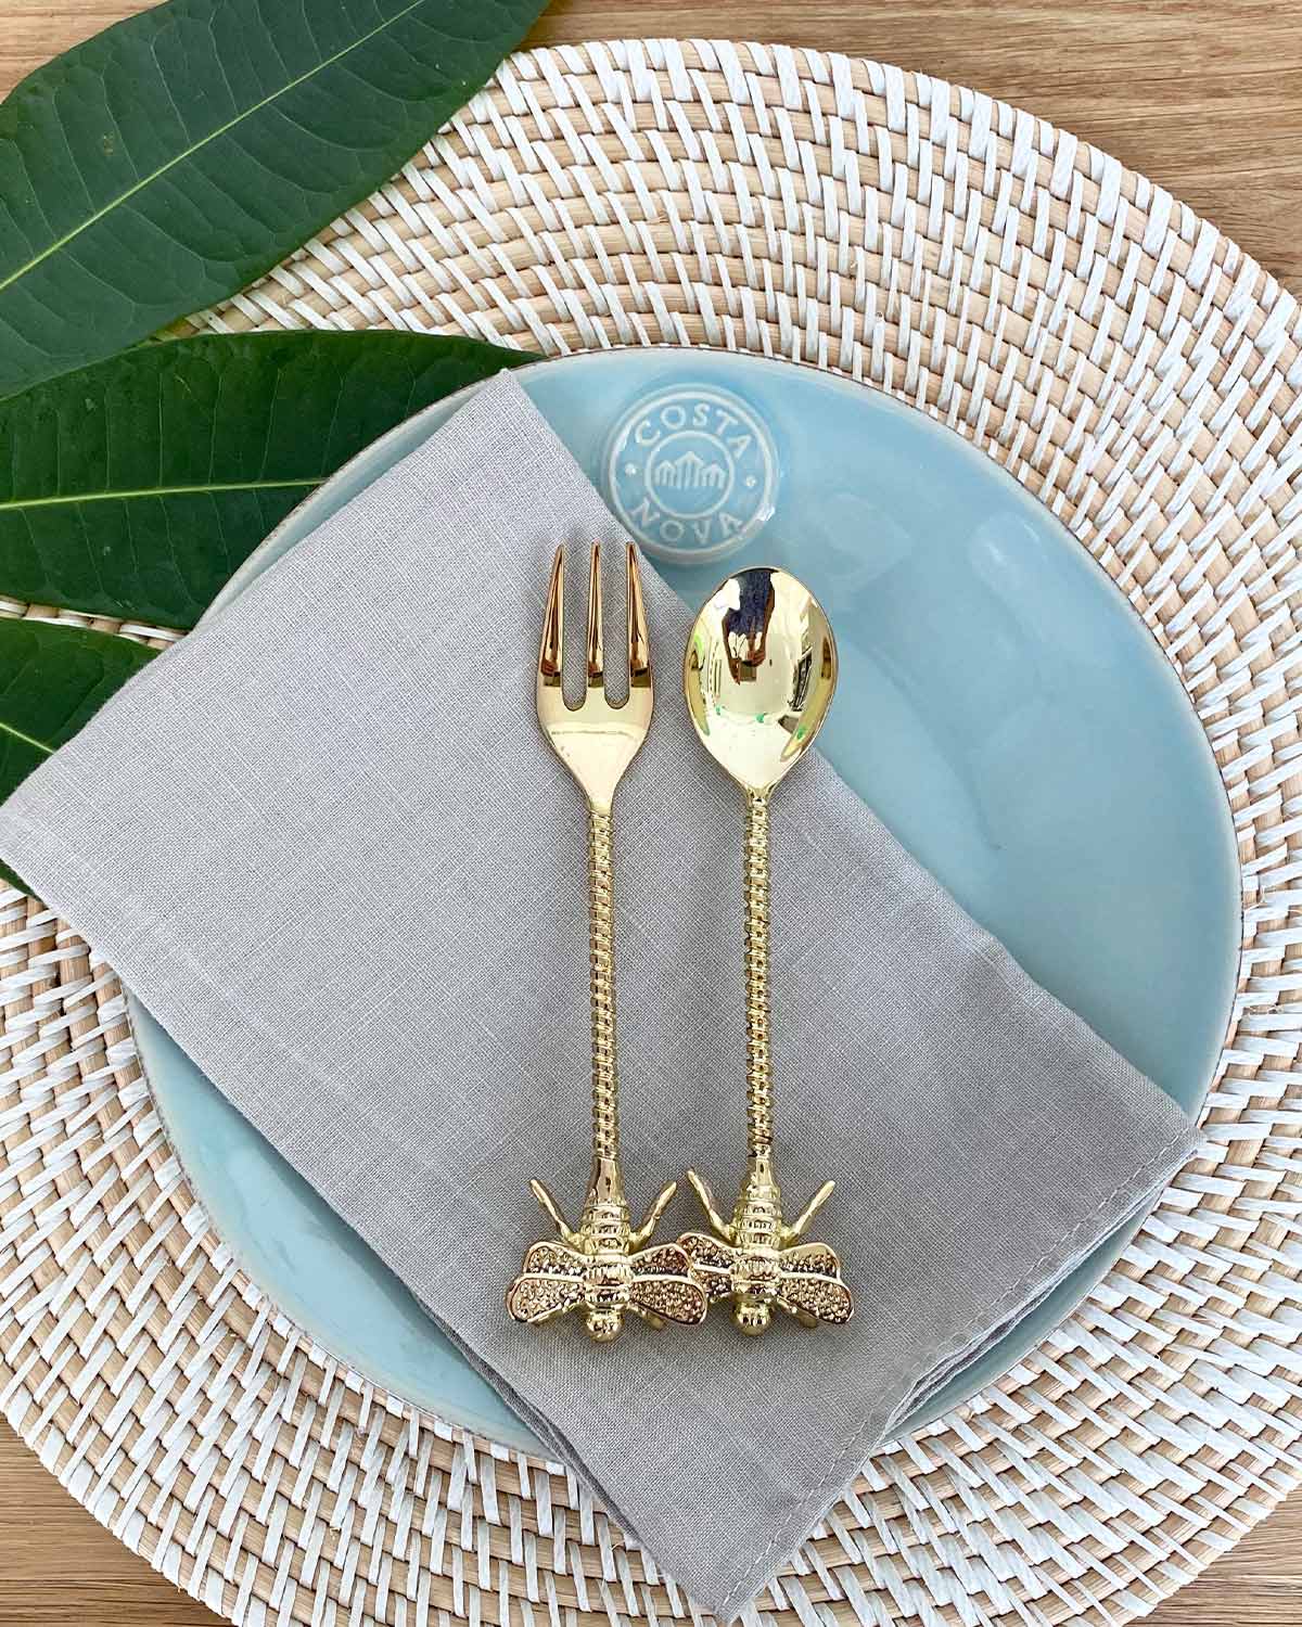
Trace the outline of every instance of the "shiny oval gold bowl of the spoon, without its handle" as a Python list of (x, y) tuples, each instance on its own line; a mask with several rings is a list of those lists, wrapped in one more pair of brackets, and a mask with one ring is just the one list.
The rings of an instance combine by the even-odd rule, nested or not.
[(814, 744), (837, 688), (824, 607), (788, 571), (721, 582), (692, 626), (687, 709), (701, 744), (744, 791), (768, 794)]

